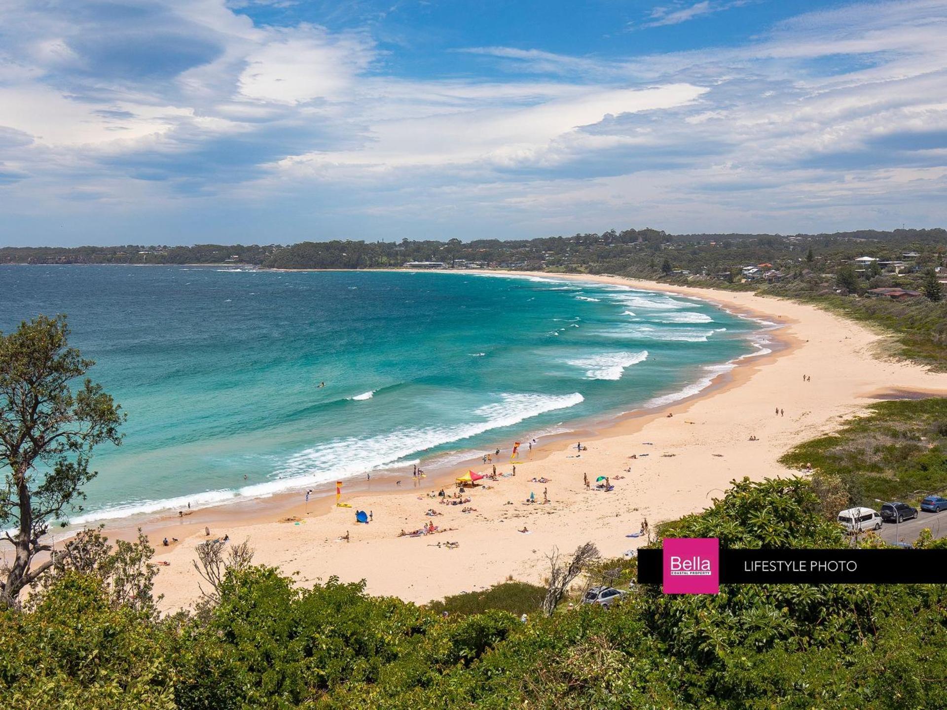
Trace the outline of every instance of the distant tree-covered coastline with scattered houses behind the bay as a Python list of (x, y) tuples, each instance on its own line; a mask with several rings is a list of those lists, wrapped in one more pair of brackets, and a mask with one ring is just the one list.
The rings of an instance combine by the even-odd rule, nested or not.
[[(804, 300), (884, 329), (890, 354), (947, 369), (947, 230), (671, 235), (644, 228), (533, 240), (304, 241), (283, 246), (7, 247), (0, 263), (232, 264), (619, 275)], [(896, 297), (877, 289), (901, 289)]]

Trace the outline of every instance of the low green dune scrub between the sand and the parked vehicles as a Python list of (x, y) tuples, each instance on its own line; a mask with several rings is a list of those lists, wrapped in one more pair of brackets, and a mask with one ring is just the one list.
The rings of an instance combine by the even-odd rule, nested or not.
[[(947, 493), (947, 399), (898, 399), (867, 407), (837, 432), (795, 447), (780, 462), (812, 464), (841, 481), (850, 505)], [(841, 509), (841, 508), (838, 508)]]

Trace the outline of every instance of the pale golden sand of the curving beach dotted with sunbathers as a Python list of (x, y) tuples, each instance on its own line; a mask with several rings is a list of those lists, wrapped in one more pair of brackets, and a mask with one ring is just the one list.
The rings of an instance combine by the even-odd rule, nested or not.
[[(531, 452), (523, 439), (515, 476), (509, 475), (512, 442), (498, 442), (501, 453), (493, 463), (505, 475), (467, 493), (471, 512), (443, 505), (434, 494), (440, 488), (448, 495), (455, 491), (455, 471), (443, 471), (420, 483), (408, 474), (401, 486), (394, 478), (374, 476), (370, 484), (347, 485), (343, 500), (351, 507), (335, 507), (334, 496), (326, 495), (307, 505), (296, 493), (256, 506), (207, 508), (149, 522), (145, 530), (163, 563), (155, 584), (156, 593), (164, 595), (161, 608), (188, 607), (198, 597), (191, 560), (194, 545), (205, 540), (205, 526), (211, 538), (249, 539), (257, 563), (278, 566), (302, 584), (331, 576), (364, 578), (373, 595), (426, 602), (508, 577), (540, 582), (545, 555), (554, 547), (568, 552), (594, 541), (603, 555), (621, 556), (644, 542), (626, 537), (638, 532), (643, 518), (653, 528), (706, 507), (733, 478), (791, 473), (777, 463), (782, 453), (831, 431), (872, 401), (899, 393), (947, 395), (947, 374), (885, 358), (886, 337), (812, 306), (754, 293), (577, 278), (704, 298), (781, 324), (771, 331), (777, 344), (772, 353), (743, 359), (699, 394), (663, 409), (619, 417), (595, 432), (556, 437)], [(811, 381), (804, 382), (803, 375)], [(577, 437), (585, 447), (581, 453)], [(491, 465), (474, 470), (489, 473)], [(608, 476), (615, 489), (587, 490), (583, 474), (593, 487), (598, 476)], [(547, 482), (538, 481), (543, 478)], [(530, 494), (536, 504), (526, 503)], [(438, 515), (426, 516), (432, 508)], [(371, 511), (371, 524), (356, 524), (356, 509)], [(429, 522), (445, 531), (399, 537), (402, 530)], [(132, 532), (114, 526), (107, 534), (127, 538)], [(342, 541), (347, 533), (349, 541)], [(178, 541), (164, 547), (166, 536)], [(448, 548), (447, 541), (458, 545)]]

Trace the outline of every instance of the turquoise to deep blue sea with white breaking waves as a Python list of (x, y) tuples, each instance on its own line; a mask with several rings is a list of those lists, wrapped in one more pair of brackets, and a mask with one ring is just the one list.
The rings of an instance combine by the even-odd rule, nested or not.
[(5, 331), (67, 313), (128, 413), (74, 523), (509, 451), (693, 394), (763, 340), (699, 300), (554, 277), (3, 266), (0, 293)]

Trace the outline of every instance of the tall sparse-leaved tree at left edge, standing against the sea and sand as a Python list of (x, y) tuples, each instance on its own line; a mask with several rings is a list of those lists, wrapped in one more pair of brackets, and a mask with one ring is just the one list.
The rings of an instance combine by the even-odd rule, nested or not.
[[(0, 605), (17, 603), (52, 559), (49, 525), (76, 510), (82, 487), (95, 477), (90, 456), (99, 444), (119, 444), (124, 413), (101, 385), (85, 377), (95, 364), (68, 344), (65, 316), (37, 316), (0, 331), (0, 527), (13, 561), (0, 568)], [(75, 391), (70, 382), (84, 378)]]

